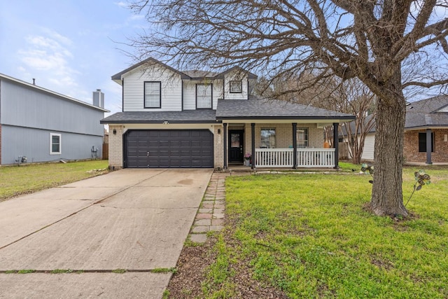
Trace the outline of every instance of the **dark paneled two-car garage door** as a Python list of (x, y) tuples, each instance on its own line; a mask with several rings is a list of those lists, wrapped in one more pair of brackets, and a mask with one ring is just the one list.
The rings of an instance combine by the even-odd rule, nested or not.
[(125, 167), (213, 168), (213, 134), (209, 130), (127, 131)]

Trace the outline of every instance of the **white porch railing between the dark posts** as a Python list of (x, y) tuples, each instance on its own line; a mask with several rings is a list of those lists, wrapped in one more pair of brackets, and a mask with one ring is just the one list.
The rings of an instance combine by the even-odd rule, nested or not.
[[(255, 167), (293, 167), (293, 148), (255, 148)], [(297, 167), (335, 167), (335, 148), (297, 148)]]

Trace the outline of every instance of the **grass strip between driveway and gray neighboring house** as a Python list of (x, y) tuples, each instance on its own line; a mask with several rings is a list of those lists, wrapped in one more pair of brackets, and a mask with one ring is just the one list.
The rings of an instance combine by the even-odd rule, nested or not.
[(80, 181), (104, 171), (88, 172), (92, 169), (106, 169), (107, 160), (92, 160), (69, 163), (45, 163), (0, 167), (0, 201), (9, 197), (32, 193)]

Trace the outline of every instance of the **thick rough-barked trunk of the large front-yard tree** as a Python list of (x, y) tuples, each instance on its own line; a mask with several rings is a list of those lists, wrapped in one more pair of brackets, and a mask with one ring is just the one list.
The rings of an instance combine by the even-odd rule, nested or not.
[(379, 216), (407, 216), (402, 199), (403, 139), (406, 101), (400, 71), (386, 83), (385, 95), (377, 104), (374, 182), (370, 207)]

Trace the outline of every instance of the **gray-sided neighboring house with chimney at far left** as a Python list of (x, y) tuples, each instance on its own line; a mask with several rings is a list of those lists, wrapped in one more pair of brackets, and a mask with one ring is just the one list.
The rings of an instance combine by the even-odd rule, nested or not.
[(92, 104), (0, 74), (0, 165), (101, 158), (104, 94)]

